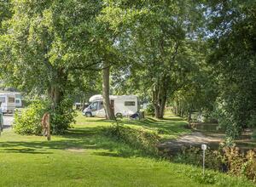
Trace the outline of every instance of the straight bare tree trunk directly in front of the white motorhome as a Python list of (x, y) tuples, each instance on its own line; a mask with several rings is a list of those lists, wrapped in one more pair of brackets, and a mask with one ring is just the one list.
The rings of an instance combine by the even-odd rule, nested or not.
[(109, 99), (109, 71), (110, 68), (108, 67), (108, 64), (104, 63), (102, 70), (102, 98), (107, 118), (114, 120), (115, 117)]

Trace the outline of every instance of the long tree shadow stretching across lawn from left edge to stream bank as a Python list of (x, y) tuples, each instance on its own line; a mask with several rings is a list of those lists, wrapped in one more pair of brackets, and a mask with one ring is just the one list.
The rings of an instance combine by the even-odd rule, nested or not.
[(104, 135), (106, 127), (84, 127), (67, 131), (58, 136), (59, 140), (51, 141), (6, 141), (0, 142), (0, 152), (24, 154), (54, 154), (54, 150), (84, 149), (93, 150), (96, 156), (146, 156), (143, 151), (131, 148), (117, 139)]

